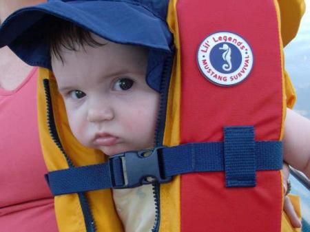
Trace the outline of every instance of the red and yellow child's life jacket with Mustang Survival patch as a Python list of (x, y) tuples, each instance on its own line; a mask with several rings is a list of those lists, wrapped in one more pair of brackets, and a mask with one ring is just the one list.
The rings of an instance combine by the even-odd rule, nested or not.
[[(303, 12), (303, 1), (298, 0), (169, 2), (167, 23), (174, 34), (175, 56), (162, 98), (165, 114), (158, 128), (158, 145), (176, 147), (165, 167), (171, 163), (171, 169), (180, 171), (179, 164), (187, 167), (189, 163), (193, 170), (154, 184), (153, 231), (298, 231), (282, 212), (278, 162), (271, 171), (257, 154), (268, 153), (270, 147), (273, 152), (273, 145), (281, 152), (278, 141), (283, 136), (285, 111), (295, 102), (282, 48), (295, 36)], [(215, 72), (225, 64), (231, 68), (225, 43), (233, 44), (229, 48), (239, 54), (230, 61), (236, 58), (242, 64), (234, 75)], [(213, 48), (223, 48), (223, 52), (211, 54)], [(246, 49), (249, 52), (242, 53)], [(217, 62), (205, 59), (204, 54), (225, 63), (214, 67)], [(39, 131), (48, 170), (107, 162), (100, 151), (83, 147), (72, 135), (52, 72), (41, 68), (38, 81)], [(200, 144), (206, 143), (212, 143), (206, 145), (207, 157), (197, 151), (205, 151)], [(183, 156), (180, 145), (192, 156)], [(180, 157), (184, 160), (174, 166)], [(211, 160), (208, 168), (216, 168), (200, 171), (200, 165), (205, 165), (200, 160)], [(59, 194), (54, 203), (61, 232), (123, 231), (111, 189)]]

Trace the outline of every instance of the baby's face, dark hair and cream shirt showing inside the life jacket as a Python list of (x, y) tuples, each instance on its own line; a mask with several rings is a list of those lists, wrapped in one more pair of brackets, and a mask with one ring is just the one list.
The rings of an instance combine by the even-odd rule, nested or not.
[[(112, 43), (64, 21), (53, 34), (58, 37), (50, 40), (52, 70), (79, 142), (107, 156), (152, 147), (159, 94), (145, 81), (148, 50)], [(114, 189), (113, 197), (125, 231), (151, 231), (152, 185)]]

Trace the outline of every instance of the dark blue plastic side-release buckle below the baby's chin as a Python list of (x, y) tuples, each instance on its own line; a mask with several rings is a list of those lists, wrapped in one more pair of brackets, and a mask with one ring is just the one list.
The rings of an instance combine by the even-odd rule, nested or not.
[[(163, 177), (161, 173), (160, 154), (163, 147), (156, 147), (154, 150), (127, 151), (109, 158), (111, 182), (114, 189), (129, 189), (141, 186), (142, 184), (152, 184), (153, 182), (165, 183), (172, 180), (172, 177)], [(115, 172), (113, 162), (121, 159), (123, 167), (123, 179), (125, 184), (117, 185), (115, 182)]]

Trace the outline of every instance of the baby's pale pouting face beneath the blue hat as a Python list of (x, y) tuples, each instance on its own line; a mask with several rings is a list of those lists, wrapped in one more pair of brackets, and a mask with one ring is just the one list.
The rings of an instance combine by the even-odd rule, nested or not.
[(108, 156), (152, 147), (159, 94), (145, 81), (147, 51), (108, 42), (61, 55), (52, 68), (80, 143)]

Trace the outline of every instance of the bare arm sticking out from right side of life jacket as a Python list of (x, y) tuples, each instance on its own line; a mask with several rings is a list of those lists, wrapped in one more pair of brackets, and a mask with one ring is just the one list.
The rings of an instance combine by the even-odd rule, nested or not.
[(310, 120), (287, 109), (284, 160), (310, 178)]

